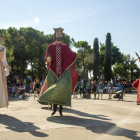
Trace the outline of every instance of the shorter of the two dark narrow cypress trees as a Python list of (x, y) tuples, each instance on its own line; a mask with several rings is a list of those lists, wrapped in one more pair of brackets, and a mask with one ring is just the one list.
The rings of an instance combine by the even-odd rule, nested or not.
[(99, 45), (98, 45), (98, 38), (94, 39), (94, 45), (93, 45), (93, 73), (94, 73), (94, 80), (97, 80), (97, 76), (99, 76)]

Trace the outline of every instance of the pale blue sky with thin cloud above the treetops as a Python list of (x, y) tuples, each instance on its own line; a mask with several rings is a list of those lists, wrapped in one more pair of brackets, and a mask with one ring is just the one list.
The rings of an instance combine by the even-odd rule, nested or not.
[(0, 7), (0, 28), (33, 27), (53, 34), (53, 28), (62, 27), (91, 46), (96, 37), (104, 43), (110, 32), (121, 52), (140, 54), (140, 0), (0, 0)]

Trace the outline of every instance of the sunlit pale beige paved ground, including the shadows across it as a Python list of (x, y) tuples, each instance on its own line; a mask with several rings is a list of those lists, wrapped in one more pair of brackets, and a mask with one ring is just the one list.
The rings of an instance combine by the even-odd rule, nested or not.
[[(93, 97), (93, 95), (92, 95)], [(9, 98), (9, 108), (0, 109), (0, 140), (140, 140), (140, 106), (136, 94), (124, 101), (72, 99), (72, 108), (57, 112), (26, 100)]]

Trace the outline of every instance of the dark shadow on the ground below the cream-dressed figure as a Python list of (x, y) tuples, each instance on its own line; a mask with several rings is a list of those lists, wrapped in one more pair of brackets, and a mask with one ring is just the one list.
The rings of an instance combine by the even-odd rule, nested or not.
[(29, 132), (36, 137), (47, 137), (47, 134), (38, 132), (40, 128), (30, 122), (22, 122), (12, 116), (0, 114), (0, 124), (6, 125), (6, 129), (16, 132)]

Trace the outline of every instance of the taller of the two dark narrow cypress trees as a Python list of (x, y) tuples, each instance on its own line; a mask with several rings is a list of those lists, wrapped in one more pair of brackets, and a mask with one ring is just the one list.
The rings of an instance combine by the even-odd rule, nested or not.
[(104, 65), (104, 78), (105, 81), (111, 80), (111, 35), (107, 33), (105, 44), (105, 65)]

